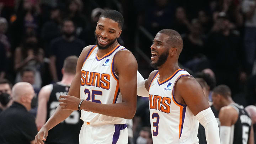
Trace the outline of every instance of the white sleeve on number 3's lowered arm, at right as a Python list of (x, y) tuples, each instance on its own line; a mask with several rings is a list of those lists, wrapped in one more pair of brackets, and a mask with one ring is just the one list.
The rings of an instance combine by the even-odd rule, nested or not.
[(206, 130), (207, 144), (220, 144), (219, 127), (212, 109), (209, 107), (199, 112), (196, 118)]

